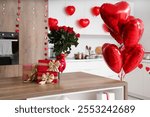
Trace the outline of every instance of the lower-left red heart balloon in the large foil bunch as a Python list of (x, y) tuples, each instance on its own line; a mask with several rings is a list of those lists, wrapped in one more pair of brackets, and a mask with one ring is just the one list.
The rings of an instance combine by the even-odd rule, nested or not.
[(119, 73), (122, 68), (122, 55), (119, 48), (114, 44), (106, 43), (102, 47), (102, 54), (109, 68)]

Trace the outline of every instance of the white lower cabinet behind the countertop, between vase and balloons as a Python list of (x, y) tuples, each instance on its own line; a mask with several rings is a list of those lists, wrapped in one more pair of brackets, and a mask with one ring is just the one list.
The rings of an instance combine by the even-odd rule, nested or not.
[(107, 66), (103, 58), (66, 61), (65, 73), (78, 71), (119, 80), (118, 74)]

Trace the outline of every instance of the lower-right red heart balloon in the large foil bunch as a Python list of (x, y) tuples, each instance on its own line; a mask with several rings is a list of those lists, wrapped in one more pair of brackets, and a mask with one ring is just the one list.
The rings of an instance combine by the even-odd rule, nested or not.
[(144, 49), (142, 45), (137, 44), (133, 47), (124, 48), (123, 55), (123, 70), (127, 74), (134, 70), (142, 61)]

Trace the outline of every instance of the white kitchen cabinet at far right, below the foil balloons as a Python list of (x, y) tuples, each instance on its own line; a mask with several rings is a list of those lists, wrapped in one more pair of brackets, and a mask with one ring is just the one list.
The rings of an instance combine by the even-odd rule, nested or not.
[(145, 67), (150, 66), (150, 61), (142, 61), (143, 68), (136, 68), (126, 75), (128, 82), (129, 95), (141, 99), (150, 99), (150, 74), (146, 72)]

